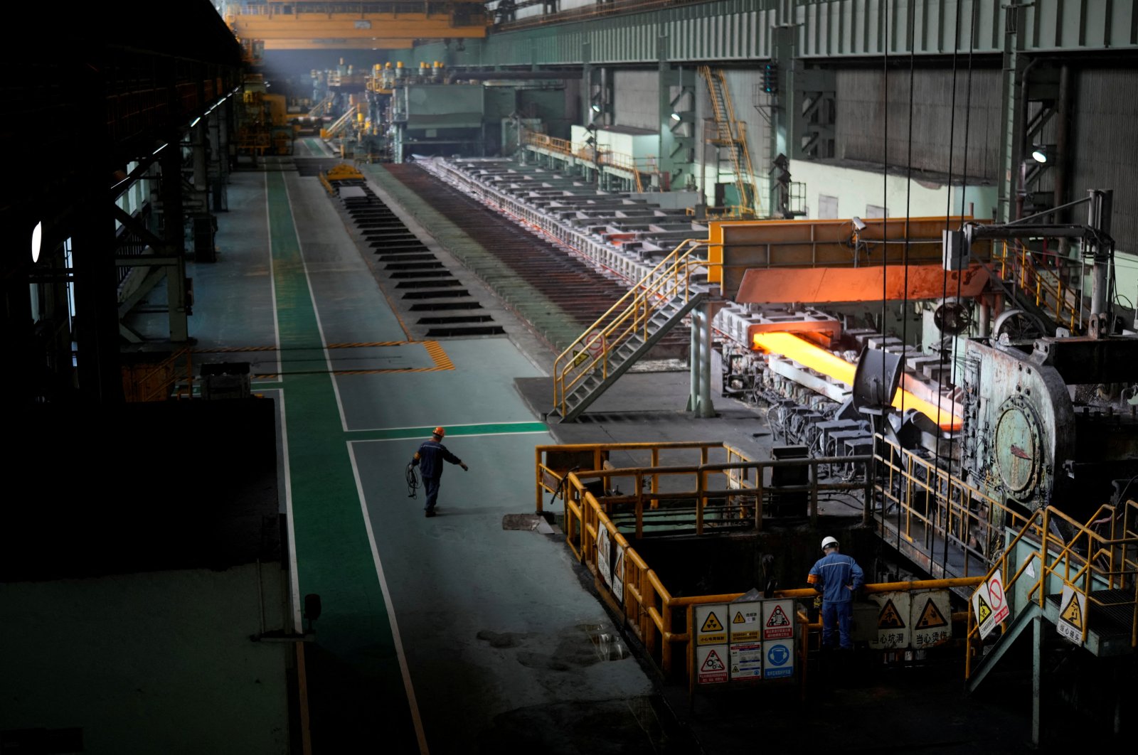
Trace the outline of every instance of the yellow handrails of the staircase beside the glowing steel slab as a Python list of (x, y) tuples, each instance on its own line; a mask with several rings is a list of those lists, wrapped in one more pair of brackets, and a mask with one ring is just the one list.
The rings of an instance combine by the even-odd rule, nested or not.
[(649, 338), (652, 315), (677, 297), (687, 300), (692, 272), (708, 264), (696, 258), (695, 251), (707, 244), (707, 239), (682, 241), (558, 355), (553, 362), (553, 406), (562, 416), (567, 397), (585, 379), (594, 372), (602, 379), (609, 376), (613, 351), (635, 337)]

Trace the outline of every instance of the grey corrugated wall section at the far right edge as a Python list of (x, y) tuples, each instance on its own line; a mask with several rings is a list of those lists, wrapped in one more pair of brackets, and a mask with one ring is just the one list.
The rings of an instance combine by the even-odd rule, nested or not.
[[(1082, 199), (1088, 189), (1113, 189), (1111, 235), (1120, 249), (1138, 250), (1138, 70), (1085, 69), (1075, 81), (1071, 199)], [(1086, 218), (1086, 209), (1074, 210), (1072, 221)]]

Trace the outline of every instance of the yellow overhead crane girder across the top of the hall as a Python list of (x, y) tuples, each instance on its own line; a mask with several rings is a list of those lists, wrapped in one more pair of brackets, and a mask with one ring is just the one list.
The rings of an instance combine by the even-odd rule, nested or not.
[(481, 0), (226, 0), (225, 23), (265, 50), (407, 50), (415, 40), (484, 39), (490, 19)]

